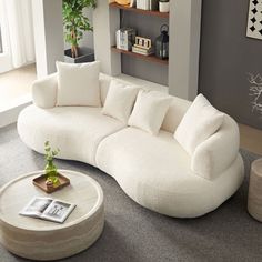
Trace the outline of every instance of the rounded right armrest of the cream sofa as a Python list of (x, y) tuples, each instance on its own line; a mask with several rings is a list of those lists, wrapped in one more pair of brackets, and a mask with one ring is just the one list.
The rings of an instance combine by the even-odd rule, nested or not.
[(239, 127), (232, 118), (225, 115), (220, 130), (196, 147), (191, 169), (198, 175), (213, 180), (236, 159), (239, 147)]

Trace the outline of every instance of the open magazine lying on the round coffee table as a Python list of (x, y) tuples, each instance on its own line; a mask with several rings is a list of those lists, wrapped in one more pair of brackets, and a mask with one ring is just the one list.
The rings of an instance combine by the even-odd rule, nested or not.
[(60, 200), (37, 196), (19, 214), (63, 223), (75, 206)]

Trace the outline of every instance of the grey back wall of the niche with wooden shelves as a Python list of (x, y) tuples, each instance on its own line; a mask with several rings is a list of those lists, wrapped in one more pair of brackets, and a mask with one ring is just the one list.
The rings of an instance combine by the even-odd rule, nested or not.
[[(121, 12), (121, 27), (135, 28), (138, 29), (138, 36), (151, 38), (152, 40), (160, 34), (161, 24), (168, 22), (169, 20), (164, 18), (152, 19), (151, 16), (141, 16), (135, 12)], [(168, 66), (147, 62), (124, 54), (122, 54), (121, 60), (123, 73), (168, 85)]]

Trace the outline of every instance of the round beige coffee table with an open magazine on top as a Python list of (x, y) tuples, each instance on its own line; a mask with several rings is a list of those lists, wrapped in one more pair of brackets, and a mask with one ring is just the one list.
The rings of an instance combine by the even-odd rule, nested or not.
[[(32, 184), (36, 171), (12, 180), (0, 190), (0, 242), (10, 252), (31, 260), (58, 260), (88, 249), (102, 233), (103, 192), (90, 177), (59, 170), (71, 184), (47, 194)], [(33, 196), (50, 196), (77, 204), (59, 224), (19, 215)]]

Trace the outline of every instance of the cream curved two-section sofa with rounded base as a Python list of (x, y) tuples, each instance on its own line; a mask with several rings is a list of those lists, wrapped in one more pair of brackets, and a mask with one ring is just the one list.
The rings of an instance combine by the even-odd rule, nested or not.
[[(100, 75), (102, 104), (110, 80)], [(190, 157), (173, 138), (189, 101), (172, 97), (159, 135), (151, 135), (103, 115), (101, 108), (54, 107), (56, 92), (57, 74), (34, 82), (34, 104), (18, 119), (22, 141), (43, 153), (49, 140), (60, 149), (59, 158), (98, 167), (150, 210), (175, 218), (200, 216), (221, 205), (243, 181), (239, 129), (229, 115)]]

